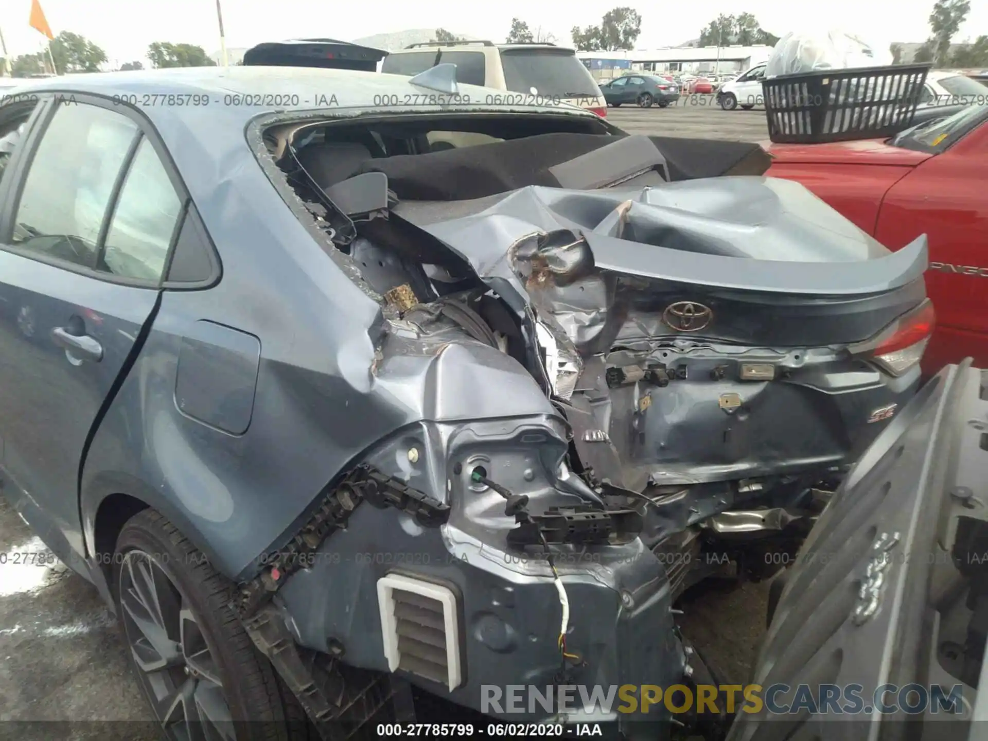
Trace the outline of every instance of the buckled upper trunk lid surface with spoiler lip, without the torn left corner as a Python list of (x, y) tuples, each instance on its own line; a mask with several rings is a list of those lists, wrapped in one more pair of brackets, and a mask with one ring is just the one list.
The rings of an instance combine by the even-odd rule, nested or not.
[[(911, 283), (927, 267), (925, 236), (889, 252), (803, 186), (775, 178), (709, 178), (630, 192), (532, 186), (493, 205), (484, 199), (476, 212), (458, 205), (459, 215), (429, 223), (417, 222), (415, 204), (405, 206), (402, 217), (448, 244), (481, 278), (503, 278), (523, 291), (509, 250), (527, 235), (560, 229), (587, 240), (598, 270), (709, 288), (878, 293)], [(435, 218), (435, 206), (426, 208)], [(621, 218), (622, 237), (613, 236)]]

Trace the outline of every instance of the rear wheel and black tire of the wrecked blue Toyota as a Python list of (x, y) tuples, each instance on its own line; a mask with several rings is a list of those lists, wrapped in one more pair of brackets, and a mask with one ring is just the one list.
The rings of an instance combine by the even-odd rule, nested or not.
[[(218, 728), (235, 732), (237, 741), (316, 738), (298, 701), (230, 610), (233, 585), (161, 514), (144, 510), (127, 521), (113, 576), (130, 663), (163, 727), (167, 714), (177, 721), (175, 732)], [(155, 610), (141, 615), (152, 591)], [(143, 618), (143, 627), (134, 617)], [(137, 663), (138, 652), (147, 668)], [(156, 664), (162, 667), (151, 668)], [(219, 719), (224, 722), (206, 728)], [(172, 737), (167, 729), (165, 736)]]

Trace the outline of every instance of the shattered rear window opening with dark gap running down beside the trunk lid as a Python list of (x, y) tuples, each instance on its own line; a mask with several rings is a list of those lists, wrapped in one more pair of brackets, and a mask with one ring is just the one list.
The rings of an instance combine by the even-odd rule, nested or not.
[[(505, 173), (505, 177), (529, 177), (528, 171), (540, 168), (528, 159), (520, 164), (517, 153), (514, 159), (506, 157), (501, 163), (496, 153), (492, 156), (488, 151), (475, 164), (472, 157), (457, 155), (454, 150), (497, 147), (505, 142), (524, 146), (526, 140), (544, 136), (590, 138), (598, 145), (600, 140), (622, 138), (613, 135), (607, 124), (595, 117), (552, 114), (392, 116), (367, 119), (360, 124), (281, 123), (263, 132), (269, 154), (284, 173), (285, 182), (322, 232), (324, 249), (333, 251), (334, 260), (354, 280), (371, 288), (382, 304), (391, 304), (403, 312), (416, 304), (433, 304), (440, 299), (443, 305), (453, 302), (467, 313), (475, 312), (482, 323), (498, 328), (498, 347), (520, 363), (525, 363), (527, 356), (517, 318), (480, 282), (463, 257), (406, 220), (400, 206), (435, 208), (439, 218), (453, 217), (457, 209), (477, 202), (461, 202), (463, 206), (452, 202), (430, 204), (404, 199), (402, 194), (407, 194), (409, 187), (431, 180), (448, 181), (450, 191), (458, 194), (476, 179), (490, 184)], [(530, 146), (537, 149), (540, 145), (532, 141)], [(456, 161), (451, 163), (451, 156)], [(445, 161), (437, 162), (437, 158)], [(386, 173), (389, 190), (385, 199), (374, 202), (380, 204), (375, 211), (351, 212), (341, 217), (338, 210), (333, 210), (331, 206), (344, 203), (338, 198), (341, 185), (347, 190), (350, 183), (353, 193), (362, 177), (367, 183), (368, 175), (372, 181), (382, 169), (388, 169), (381, 167), (387, 162), (400, 167)], [(496, 164), (492, 166), (492, 162)], [(329, 193), (336, 200), (329, 198)], [(341, 239), (341, 234), (346, 238)]]

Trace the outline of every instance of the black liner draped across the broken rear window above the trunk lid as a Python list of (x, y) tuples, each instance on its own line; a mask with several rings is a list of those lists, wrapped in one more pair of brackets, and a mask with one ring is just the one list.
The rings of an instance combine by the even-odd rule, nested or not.
[[(649, 137), (665, 156), (673, 181), (720, 175), (761, 175), (771, 158), (758, 144)], [(358, 173), (382, 172), (405, 201), (465, 201), (527, 186), (558, 188), (549, 168), (614, 143), (593, 133), (544, 133), (427, 154), (371, 159)]]

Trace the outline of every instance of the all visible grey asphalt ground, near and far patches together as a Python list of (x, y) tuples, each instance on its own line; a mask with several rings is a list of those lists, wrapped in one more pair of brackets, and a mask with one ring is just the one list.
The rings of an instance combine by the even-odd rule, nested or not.
[[(767, 138), (764, 112), (721, 111), (712, 97), (666, 109), (622, 106), (610, 109), (608, 118), (633, 133)], [(0, 740), (157, 738), (118, 626), (96, 590), (61, 564), (48, 563), (47, 552), (0, 496)], [(711, 582), (678, 606), (686, 635), (732, 682), (750, 674), (764, 633), (766, 596), (765, 584)]]

